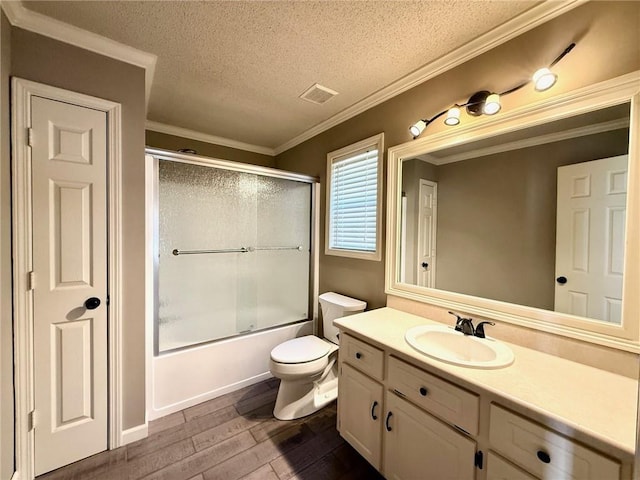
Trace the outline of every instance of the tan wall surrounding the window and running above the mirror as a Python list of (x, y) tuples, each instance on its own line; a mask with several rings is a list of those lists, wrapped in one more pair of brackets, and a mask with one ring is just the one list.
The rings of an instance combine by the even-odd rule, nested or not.
[[(504, 45), (480, 55), (393, 99), (348, 120), (276, 158), (278, 168), (320, 177), (326, 184), (326, 154), (380, 132), (385, 149), (411, 140), (408, 128), (454, 102), (464, 102), (475, 91), (505, 90), (550, 63), (569, 43), (578, 45), (555, 69), (558, 84), (549, 92), (522, 89), (503, 98), (503, 109), (531, 103), (640, 69), (640, 2), (590, 2), (541, 25)], [(468, 119), (491, 121), (487, 118)], [(431, 125), (423, 135), (444, 129)], [(385, 165), (386, 179), (386, 165)], [(386, 192), (386, 184), (384, 187)], [(321, 198), (324, 218), (325, 197)], [(386, 201), (384, 202), (386, 209)], [(383, 215), (385, 228), (386, 215)], [(324, 238), (324, 222), (320, 238)], [(324, 243), (321, 240), (321, 249)], [(335, 290), (385, 305), (384, 262), (320, 255), (320, 290)]]

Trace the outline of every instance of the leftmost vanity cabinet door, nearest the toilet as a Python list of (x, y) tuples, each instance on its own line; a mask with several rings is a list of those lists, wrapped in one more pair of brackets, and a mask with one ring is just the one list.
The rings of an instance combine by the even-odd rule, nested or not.
[(382, 440), (382, 392), (378, 382), (343, 364), (338, 385), (338, 425), (340, 435), (380, 469)]

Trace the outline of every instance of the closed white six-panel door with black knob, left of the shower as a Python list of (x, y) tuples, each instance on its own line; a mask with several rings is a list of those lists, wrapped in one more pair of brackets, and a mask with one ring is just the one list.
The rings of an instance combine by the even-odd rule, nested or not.
[(40, 97), (31, 116), (40, 475), (107, 448), (107, 128), (104, 112)]

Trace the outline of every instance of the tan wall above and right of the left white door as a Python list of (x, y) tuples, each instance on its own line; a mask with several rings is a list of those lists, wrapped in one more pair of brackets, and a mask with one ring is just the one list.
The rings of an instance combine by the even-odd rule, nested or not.
[(12, 75), (122, 105), (122, 400), (129, 429), (145, 422), (144, 70), (20, 28), (12, 28), (11, 42)]

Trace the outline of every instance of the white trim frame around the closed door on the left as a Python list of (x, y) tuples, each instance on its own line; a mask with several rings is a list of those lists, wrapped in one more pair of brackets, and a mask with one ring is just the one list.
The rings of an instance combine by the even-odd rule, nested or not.
[(34, 95), (79, 105), (107, 114), (109, 168), (109, 448), (121, 445), (122, 438), (122, 358), (120, 298), (122, 291), (122, 152), (120, 104), (69, 92), (20, 78), (12, 81), (12, 225), (14, 360), (16, 392), (16, 471), (21, 478), (34, 477), (34, 437), (28, 416), (33, 410), (33, 294), (27, 288), (26, 273), (32, 269), (31, 243), (31, 152), (26, 127), (31, 125), (31, 97)]

